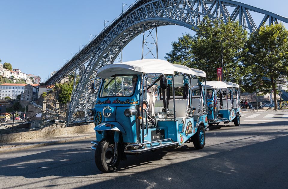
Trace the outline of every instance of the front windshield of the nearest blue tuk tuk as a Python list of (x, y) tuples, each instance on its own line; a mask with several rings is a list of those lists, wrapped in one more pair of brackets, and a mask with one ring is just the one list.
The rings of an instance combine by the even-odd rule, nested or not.
[(114, 76), (104, 79), (100, 97), (132, 96), (137, 83), (137, 76)]

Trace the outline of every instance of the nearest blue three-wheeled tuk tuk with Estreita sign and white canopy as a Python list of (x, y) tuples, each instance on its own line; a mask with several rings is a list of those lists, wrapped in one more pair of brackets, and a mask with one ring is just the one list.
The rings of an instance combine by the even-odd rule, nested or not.
[[(208, 118), (205, 87), (198, 79), (206, 81), (204, 71), (143, 59), (104, 66), (97, 75), (101, 87), (88, 115), (94, 116), (96, 140), (91, 149), (99, 170), (116, 170), (129, 154), (186, 142), (204, 147)], [(201, 94), (192, 99), (190, 88), (196, 85)]]

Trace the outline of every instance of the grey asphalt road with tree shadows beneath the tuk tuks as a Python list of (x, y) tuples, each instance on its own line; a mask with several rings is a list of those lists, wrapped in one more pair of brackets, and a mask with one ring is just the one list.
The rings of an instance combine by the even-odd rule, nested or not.
[(185, 143), (174, 150), (128, 156), (113, 173), (97, 169), (90, 147), (86, 139), (0, 154), (0, 188), (242, 189), (288, 185), (288, 113), (247, 113), (238, 127), (230, 123), (206, 132), (202, 150)]

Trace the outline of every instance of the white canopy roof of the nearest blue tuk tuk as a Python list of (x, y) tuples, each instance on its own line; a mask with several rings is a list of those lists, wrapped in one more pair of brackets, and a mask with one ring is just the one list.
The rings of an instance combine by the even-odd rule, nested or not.
[(206, 77), (206, 73), (202, 70), (189, 68), (179, 64), (171, 64), (168, 61), (160, 59), (143, 59), (110, 64), (101, 67), (98, 70), (97, 75), (101, 78), (108, 78), (115, 74), (136, 75), (142, 73), (163, 73), (174, 75), (174, 71)]

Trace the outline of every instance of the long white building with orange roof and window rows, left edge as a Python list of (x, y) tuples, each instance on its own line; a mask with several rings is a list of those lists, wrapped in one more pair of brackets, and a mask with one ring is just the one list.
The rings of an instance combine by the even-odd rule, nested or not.
[(0, 85), (0, 99), (10, 97), (16, 99), (17, 95), (24, 94), (27, 84), (4, 83)]

